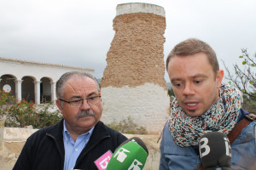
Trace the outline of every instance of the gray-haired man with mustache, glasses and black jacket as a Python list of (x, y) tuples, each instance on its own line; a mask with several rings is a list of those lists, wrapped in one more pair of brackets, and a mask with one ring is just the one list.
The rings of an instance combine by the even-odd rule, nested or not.
[(100, 121), (101, 92), (90, 74), (65, 73), (56, 96), (63, 119), (27, 139), (14, 169), (97, 169), (95, 161), (126, 140)]

